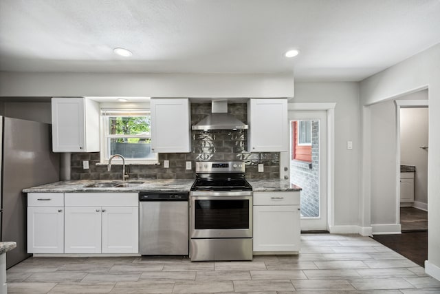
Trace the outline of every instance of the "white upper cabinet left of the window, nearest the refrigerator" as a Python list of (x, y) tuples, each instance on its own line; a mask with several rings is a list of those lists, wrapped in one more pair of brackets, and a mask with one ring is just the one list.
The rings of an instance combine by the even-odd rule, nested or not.
[(95, 152), (99, 148), (99, 104), (87, 98), (52, 98), (54, 152)]

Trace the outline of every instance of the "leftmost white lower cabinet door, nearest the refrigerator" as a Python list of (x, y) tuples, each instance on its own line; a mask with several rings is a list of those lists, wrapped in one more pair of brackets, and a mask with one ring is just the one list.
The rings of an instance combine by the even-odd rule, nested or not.
[(64, 252), (63, 210), (63, 207), (28, 207), (28, 253)]

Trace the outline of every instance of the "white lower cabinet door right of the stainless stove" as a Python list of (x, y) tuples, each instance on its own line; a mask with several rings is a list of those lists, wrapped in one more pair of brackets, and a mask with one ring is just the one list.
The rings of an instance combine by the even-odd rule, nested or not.
[(299, 250), (299, 205), (254, 206), (254, 251)]

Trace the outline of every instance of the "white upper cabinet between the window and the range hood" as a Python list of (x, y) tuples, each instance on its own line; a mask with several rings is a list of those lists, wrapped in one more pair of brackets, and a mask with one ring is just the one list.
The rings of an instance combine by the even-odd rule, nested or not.
[(190, 152), (191, 119), (188, 98), (151, 98), (151, 150)]

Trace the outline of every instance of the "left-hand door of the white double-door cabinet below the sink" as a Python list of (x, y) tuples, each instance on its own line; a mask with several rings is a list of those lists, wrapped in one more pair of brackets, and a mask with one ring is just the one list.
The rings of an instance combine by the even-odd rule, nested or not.
[(65, 208), (65, 253), (101, 253), (101, 208)]

